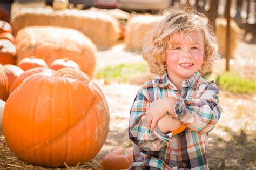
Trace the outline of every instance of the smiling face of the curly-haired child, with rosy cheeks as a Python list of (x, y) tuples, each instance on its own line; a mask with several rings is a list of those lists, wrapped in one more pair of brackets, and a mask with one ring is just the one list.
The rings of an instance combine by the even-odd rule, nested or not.
[(172, 37), (172, 46), (166, 51), (167, 73), (173, 78), (188, 79), (197, 72), (204, 59), (204, 40), (200, 31), (186, 34), (188, 41), (180, 33)]

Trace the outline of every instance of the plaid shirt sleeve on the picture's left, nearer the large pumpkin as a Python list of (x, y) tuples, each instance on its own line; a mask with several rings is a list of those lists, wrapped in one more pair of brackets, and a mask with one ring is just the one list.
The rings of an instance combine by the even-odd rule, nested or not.
[(158, 126), (151, 131), (146, 127), (146, 111), (150, 102), (140, 92), (137, 93), (130, 111), (129, 137), (144, 150), (159, 151), (165, 145), (169, 145), (172, 132), (163, 134)]

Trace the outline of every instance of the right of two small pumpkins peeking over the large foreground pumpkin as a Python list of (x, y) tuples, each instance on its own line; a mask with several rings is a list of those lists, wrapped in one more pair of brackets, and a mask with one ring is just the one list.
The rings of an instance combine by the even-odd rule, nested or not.
[(71, 67), (80, 70), (79, 65), (76, 62), (69, 60), (68, 58), (56, 59), (49, 65), (50, 69), (56, 71), (65, 67)]

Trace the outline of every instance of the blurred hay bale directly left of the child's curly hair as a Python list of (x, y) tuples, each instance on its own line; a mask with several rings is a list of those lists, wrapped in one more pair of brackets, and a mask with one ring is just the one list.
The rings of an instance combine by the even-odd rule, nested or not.
[(140, 51), (143, 46), (145, 34), (159, 23), (161, 16), (136, 15), (128, 20), (126, 28), (126, 50)]

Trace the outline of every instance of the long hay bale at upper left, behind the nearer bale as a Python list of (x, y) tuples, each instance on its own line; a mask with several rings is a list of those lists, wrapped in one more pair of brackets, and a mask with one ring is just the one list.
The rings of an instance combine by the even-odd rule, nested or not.
[(52, 8), (24, 8), (11, 18), (14, 35), (25, 26), (60, 26), (83, 32), (98, 49), (107, 49), (120, 37), (118, 19), (105, 12)]

